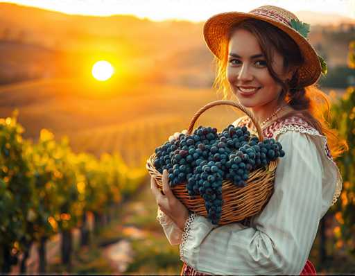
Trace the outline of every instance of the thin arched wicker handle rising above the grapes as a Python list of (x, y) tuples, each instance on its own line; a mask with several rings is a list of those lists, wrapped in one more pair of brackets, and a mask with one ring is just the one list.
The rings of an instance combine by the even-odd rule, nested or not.
[(243, 105), (241, 105), (239, 103), (235, 103), (234, 101), (226, 101), (226, 100), (213, 101), (213, 102), (207, 103), (207, 105), (201, 107), (200, 110), (198, 110), (198, 112), (196, 112), (195, 115), (193, 115), (193, 118), (191, 119), (189, 128), (187, 129), (187, 132), (189, 133), (189, 135), (191, 135), (192, 130), (193, 130), (193, 126), (195, 126), (195, 123), (196, 123), (198, 117), (200, 117), (200, 115), (203, 112), (205, 112), (206, 110), (208, 110), (209, 108), (217, 106), (217, 105), (232, 105), (233, 107), (236, 107), (239, 110), (241, 110), (242, 112), (244, 112), (248, 117), (250, 117), (255, 128), (257, 128), (259, 141), (263, 141), (263, 132), (260, 128), (259, 121), (258, 121), (257, 117), (255, 117), (254, 114), (252, 114), (252, 112), (250, 112), (245, 107), (243, 107)]

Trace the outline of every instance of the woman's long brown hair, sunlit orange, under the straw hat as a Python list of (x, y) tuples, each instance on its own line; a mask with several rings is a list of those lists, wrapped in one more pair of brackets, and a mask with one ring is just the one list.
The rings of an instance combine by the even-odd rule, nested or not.
[[(328, 139), (328, 146), (334, 159), (343, 153), (344, 150), (347, 150), (347, 142), (340, 139), (337, 130), (331, 129), (329, 125), (331, 119), (331, 102), (327, 94), (324, 94), (316, 85), (302, 87), (299, 83), (297, 69), (304, 62), (299, 47), (284, 31), (268, 22), (257, 19), (245, 19), (230, 28), (225, 40), (220, 42), (218, 52), (220, 59), (215, 58), (217, 70), (214, 87), (217, 89), (217, 92), (222, 92), (224, 99), (228, 98), (230, 95), (230, 86), (226, 76), (228, 43), (231, 35), (237, 29), (249, 31), (257, 38), (261, 51), (266, 57), (270, 75), (282, 87), (278, 103), (281, 103), (285, 99), (286, 103), (294, 109), (294, 111), (289, 112), (284, 115), (284, 117), (291, 117), (293, 115), (302, 117), (302, 119), (307, 121), (313, 128), (318, 130), (321, 135), (325, 135)], [(286, 71), (291, 69), (295, 72), (291, 80), (286, 80), (286, 82), (281, 80), (272, 69), (271, 60), (273, 51), (277, 51), (283, 56), (284, 69)]]

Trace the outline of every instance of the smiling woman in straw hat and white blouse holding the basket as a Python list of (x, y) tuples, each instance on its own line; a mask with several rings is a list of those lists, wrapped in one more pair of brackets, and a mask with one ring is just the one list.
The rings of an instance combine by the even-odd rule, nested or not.
[[(164, 195), (151, 178), (157, 219), (168, 241), (180, 244), (182, 275), (315, 273), (307, 258), (320, 219), (340, 195), (333, 158), (347, 144), (322, 116), (329, 100), (315, 83), (326, 65), (306, 40), (308, 32), (308, 24), (275, 6), (206, 21), (205, 41), (218, 64), (215, 87), (249, 107), (264, 136), (277, 139), (286, 155), (268, 204), (243, 223), (216, 227), (175, 198), (166, 171)], [(253, 128), (248, 117), (234, 125)]]

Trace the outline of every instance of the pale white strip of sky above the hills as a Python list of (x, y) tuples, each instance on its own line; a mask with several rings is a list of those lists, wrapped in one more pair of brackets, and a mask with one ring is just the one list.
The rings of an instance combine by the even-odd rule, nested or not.
[(298, 12), (337, 13), (355, 19), (354, 0), (9, 0), (68, 14), (78, 15), (136, 15), (155, 21), (164, 19), (187, 19), (205, 21), (218, 12), (238, 10), (248, 12), (263, 5), (275, 5)]

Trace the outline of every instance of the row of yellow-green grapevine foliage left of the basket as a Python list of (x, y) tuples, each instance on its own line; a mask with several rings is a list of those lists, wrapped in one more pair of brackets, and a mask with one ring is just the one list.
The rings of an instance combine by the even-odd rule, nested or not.
[(1, 250), (0, 267), (7, 268), (13, 263), (4, 260), (28, 241), (71, 230), (84, 212), (104, 214), (146, 176), (146, 169), (130, 170), (119, 155), (98, 160), (73, 153), (66, 137), (58, 143), (48, 130), (41, 130), (37, 144), (22, 132), (17, 114), (0, 119), (0, 248), (8, 248)]

